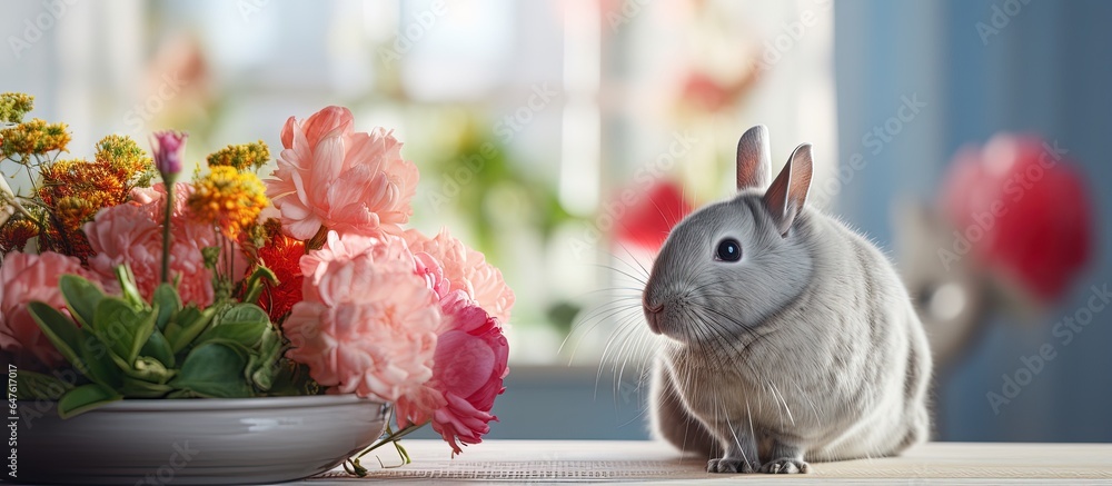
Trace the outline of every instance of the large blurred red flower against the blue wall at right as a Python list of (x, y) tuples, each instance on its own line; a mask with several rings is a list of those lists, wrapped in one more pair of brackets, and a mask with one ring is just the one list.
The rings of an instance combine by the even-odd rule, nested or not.
[(957, 229), (947, 250), (972, 247), (981, 264), (1043, 301), (1069, 289), (1093, 247), (1084, 175), (1059, 150), (1037, 137), (996, 135), (954, 157), (942, 190)]

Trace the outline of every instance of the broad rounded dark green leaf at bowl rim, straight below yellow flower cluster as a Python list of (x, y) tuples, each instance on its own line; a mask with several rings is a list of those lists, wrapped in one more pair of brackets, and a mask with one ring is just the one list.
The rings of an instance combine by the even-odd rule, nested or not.
[(177, 378), (170, 386), (188, 389), (212, 398), (242, 398), (251, 396), (251, 388), (244, 379), (247, 357), (234, 346), (209, 343), (189, 353)]

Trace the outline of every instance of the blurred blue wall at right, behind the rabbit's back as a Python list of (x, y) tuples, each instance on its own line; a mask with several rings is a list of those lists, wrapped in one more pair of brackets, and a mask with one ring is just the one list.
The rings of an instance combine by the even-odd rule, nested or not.
[[(984, 42), (1003, 0), (840, 1), (835, 70), (840, 158), (862, 151), (862, 135), (894, 115), (901, 96), (927, 106), (843, 190), (837, 211), (885, 248), (890, 207), (929, 198), (953, 152), (1001, 130), (1058, 140), (1088, 176), (1099, 220), (1098, 251), (1073, 295), (1035, 325), (996, 317), (970, 359), (941, 384), (939, 438), (950, 440), (1112, 440), (1112, 309), (1069, 346), (1051, 324), (1083, 307), (1091, 285), (1112, 279), (1112, 2), (1031, 0)], [(1012, 6), (1014, 11), (1014, 6)], [(887, 201), (890, 204), (877, 204)], [(994, 413), (985, 397), (1003, 374), (1045, 343), (1058, 349), (1030, 385)]]

